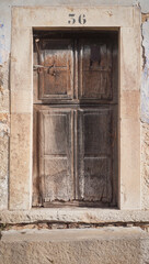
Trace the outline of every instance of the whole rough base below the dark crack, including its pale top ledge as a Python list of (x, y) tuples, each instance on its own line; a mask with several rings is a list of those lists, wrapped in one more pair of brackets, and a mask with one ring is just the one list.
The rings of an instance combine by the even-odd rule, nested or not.
[(145, 264), (148, 251), (149, 235), (139, 228), (7, 231), (0, 264)]

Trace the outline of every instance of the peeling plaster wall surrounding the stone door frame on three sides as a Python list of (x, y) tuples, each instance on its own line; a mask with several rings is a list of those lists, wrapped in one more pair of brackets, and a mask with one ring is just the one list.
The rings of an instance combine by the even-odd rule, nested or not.
[[(83, 6), (84, 1), (68, 0), (0, 0), (0, 209), (8, 209), (10, 97), (9, 68), (11, 48), (11, 8), (13, 6)], [(149, 1), (87, 0), (85, 6), (140, 6), (142, 14), (141, 80), (141, 188), (142, 208), (149, 209)]]

